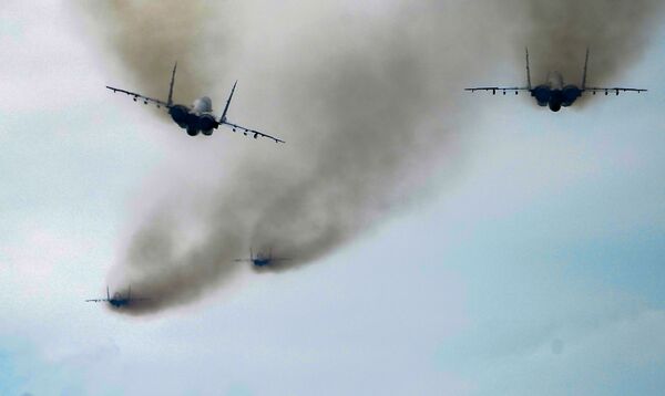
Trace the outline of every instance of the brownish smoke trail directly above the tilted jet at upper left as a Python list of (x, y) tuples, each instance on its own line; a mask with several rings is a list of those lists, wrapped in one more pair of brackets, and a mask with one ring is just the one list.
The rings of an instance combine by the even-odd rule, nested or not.
[(106, 2), (81, 2), (81, 7), (93, 17), (93, 23), (104, 22), (106, 43), (113, 50), (112, 60), (124, 63), (136, 77), (136, 88), (150, 92), (150, 95), (165, 96), (166, 73), (175, 61), (181, 70), (190, 73), (178, 75), (178, 94), (191, 102), (201, 96), (211, 85), (214, 76), (207, 75), (202, 42), (218, 40), (216, 55), (224, 55), (219, 50), (227, 49), (224, 27), (216, 25), (214, 38), (205, 30), (213, 23), (208, 17), (212, 9), (204, 1), (130, 1), (114, 0)]

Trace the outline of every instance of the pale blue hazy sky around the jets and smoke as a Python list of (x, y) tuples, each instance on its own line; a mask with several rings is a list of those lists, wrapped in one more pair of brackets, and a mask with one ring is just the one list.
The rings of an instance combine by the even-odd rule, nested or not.
[[(205, 180), (193, 154), (246, 164), (254, 149), (283, 148), (224, 131), (191, 139), (105, 92), (132, 77), (82, 12), (10, 0), (0, 13), (0, 394), (665, 388), (665, 31), (615, 76), (647, 94), (559, 114), (463, 92), (523, 79), (513, 53), (478, 53), (495, 66), (449, 84), (473, 114), (454, 132), (461, 154), (408, 205), (308, 265), (243, 267), (198, 301), (127, 316), (84, 300), (103, 295), (163, 179)], [(236, 72), (252, 81), (253, 70)], [(245, 86), (237, 112), (248, 119), (242, 108), (262, 90)], [(274, 113), (255, 121), (279, 131)]]

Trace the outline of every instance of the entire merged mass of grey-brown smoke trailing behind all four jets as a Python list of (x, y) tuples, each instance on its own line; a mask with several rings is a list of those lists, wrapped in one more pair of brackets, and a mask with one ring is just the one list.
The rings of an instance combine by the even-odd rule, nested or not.
[[(279, 129), (288, 132), (285, 147), (234, 140), (249, 157), (239, 166), (217, 163), (218, 183), (186, 200), (196, 205), (165, 197), (144, 215), (114, 271), (133, 290), (157, 298), (131, 313), (198, 299), (233, 279), (233, 259), (250, 247), (295, 259), (269, 270), (324, 257), (412, 201), (442, 163), (454, 169), (461, 153), (451, 132), (471, 119), (456, 100), (463, 82), (492, 66), (484, 58), (529, 44), (536, 67), (559, 69), (565, 77), (580, 74), (589, 44), (593, 81), (601, 84), (644, 50), (659, 9), (610, 0), (109, 4), (104, 17), (101, 6), (91, 11), (112, 27), (108, 44), (140, 90), (162, 92), (165, 73), (156, 71), (186, 60), (178, 90), (192, 100), (239, 62), (233, 67), (252, 70), (270, 98), (252, 114), (283, 119)], [(587, 25), (591, 15), (595, 22)], [(257, 25), (265, 37), (243, 34)], [(259, 96), (256, 88), (244, 92)], [(190, 160), (200, 167), (201, 158)], [(173, 196), (182, 190), (172, 187)], [(183, 243), (192, 223), (197, 238)]]

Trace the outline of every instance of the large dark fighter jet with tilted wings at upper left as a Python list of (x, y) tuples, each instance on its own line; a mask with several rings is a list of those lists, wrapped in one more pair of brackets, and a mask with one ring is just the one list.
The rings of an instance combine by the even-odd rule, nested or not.
[(237, 81), (235, 82), (235, 84), (233, 84), (233, 88), (231, 90), (231, 95), (228, 96), (228, 100), (226, 101), (226, 106), (224, 107), (224, 112), (222, 113), (222, 116), (218, 119), (213, 114), (213, 101), (207, 96), (197, 98), (196, 101), (194, 101), (192, 106), (173, 103), (173, 84), (175, 83), (175, 70), (176, 69), (177, 69), (177, 62), (173, 66), (173, 72), (171, 74), (171, 85), (168, 86), (168, 98), (166, 100), (166, 102), (160, 101), (160, 100), (156, 100), (153, 97), (147, 97), (147, 96), (134, 93), (134, 92), (109, 86), (109, 85), (106, 85), (106, 88), (113, 91), (114, 93), (121, 92), (123, 94), (133, 96), (134, 102), (141, 101), (141, 102), (143, 102), (143, 104), (151, 103), (151, 104), (156, 105), (157, 108), (161, 108), (161, 107), (165, 108), (166, 111), (168, 111), (171, 118), (173, 118), (173, 121), (181, 128), (187, 131), (187, 134), (190, 136), (196, 136), (196, 135), (198, 135), (198, 133), (202, 133), (205, 136), (211, 136), (213, 134), (213, 129), (216, 129), (217, 127), (219, 127), (219, 125), (226, 125), (226, 126), (231, 127), (233, 129), (233, 132), (239, 131), (245, 136), (247, 136), (247, 134), (249, 134), (249, 135), (253, 135), (254, 138), (257, 138), (260, 136), (260, 137), (267, 137), (269, 139), (273, 139), (273, 140), (275, 140), (275, 143), (285, 143), (280, 138), (277, 138), (275, 136), (270, 136), (270, 135), (264, 134), (262, 132), (246, 128), (244, 126), (234, 124), (234, 123), (229, 122), (228, 118), (226, 118), (226, 113), (228, 113), (228, 105), (231, 104), (233, 93), (235, 92), (235, 87), (238, 83)]

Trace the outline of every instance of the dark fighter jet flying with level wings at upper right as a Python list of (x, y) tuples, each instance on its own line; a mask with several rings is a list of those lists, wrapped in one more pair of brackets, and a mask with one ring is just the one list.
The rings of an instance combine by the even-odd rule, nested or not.
[(524, 87), (500, 87), (500, 86), (481, 86), (473, 88), (466, 88), (464, 91), (491, 91), (492, 95), (495, 95), (497, 92), (503, 93), (505, 95), (507, 92), (514, 92), (515, 95), (520, 91), (529, 91), (531, 96), (535, 98), (539, 106), (550, 106), (552, 112), (559, 112), (561, 106), (567, 107), (575, 103), (577, 97), (582, 96), (585, 92), (591, 92), (595, 95), (598, 92), (604, 92), (607, 95), (610, 92), (618, 95), (620, 92), (646, 92), (646, 90), (642, 88), (623, 88), (623, 87), (595, 87), (595, 86), (586, 86), (586, 69), (589, 65), (589, 50), (586, 50), (586, 59), (584, 61), (584, 72), (582, 74), (582, 84), (580, 86), (574, 84), (565, 84), (563, 81), (563, 76), (559, 72), (550, 72), (548, 73), (548, 80), (544, 84), (536, 85), (535, 87), (531, 86), (531, 70), (529, 67), (529, 49), (526, 49), (526, 86)]

